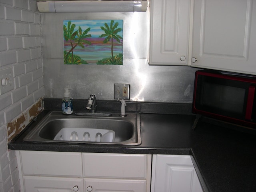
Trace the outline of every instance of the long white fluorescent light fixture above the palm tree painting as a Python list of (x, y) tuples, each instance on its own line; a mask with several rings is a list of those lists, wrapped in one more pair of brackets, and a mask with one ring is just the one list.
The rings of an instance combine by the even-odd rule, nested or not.
[(37, 2), (41, 13), (68, 12), (146, 12), (148, 1), (44, 1)]

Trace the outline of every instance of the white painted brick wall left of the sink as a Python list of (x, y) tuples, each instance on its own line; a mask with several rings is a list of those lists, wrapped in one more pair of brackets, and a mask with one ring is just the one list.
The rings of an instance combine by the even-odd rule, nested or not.
[(0, 70), (11, 68), (14, 84), (14, 89), (0, 95), (0, 192), (20, 191), (17, 159), (7, 149), (7, 124), (44, 96), (36, 9), (34, 0), (0, 0)]

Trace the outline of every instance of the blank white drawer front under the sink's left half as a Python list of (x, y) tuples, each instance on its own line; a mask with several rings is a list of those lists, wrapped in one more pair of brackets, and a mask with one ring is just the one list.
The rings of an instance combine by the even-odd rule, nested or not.
[(76, 152), (20, 151), (23, 175), (82, 177), (82, 154)]

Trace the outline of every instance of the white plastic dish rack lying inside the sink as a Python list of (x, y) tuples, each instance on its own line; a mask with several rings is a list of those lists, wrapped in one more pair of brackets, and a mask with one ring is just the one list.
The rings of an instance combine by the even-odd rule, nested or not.
[(62, 128), (54, 137), (60, 141), (114, 142), (115, 132), (107, 129)]

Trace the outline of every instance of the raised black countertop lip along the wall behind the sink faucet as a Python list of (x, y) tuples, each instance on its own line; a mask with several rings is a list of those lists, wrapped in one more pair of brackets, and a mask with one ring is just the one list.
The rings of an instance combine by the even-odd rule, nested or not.
[[(61, 110), (61, 98), (44, 98), (46, 110)], [(74, 99), (73, 111), (84, 111), (86, 99)], [(192, 103), (136, 102), (126, 100), (126, 112), (154, 114), (192, 114)], [(97, 110), (104, 112), (121, 112), (121, 103), (117, 100), (97, 100)]]

